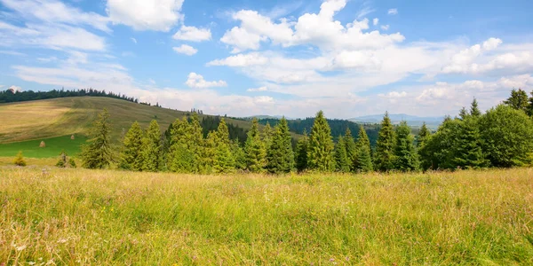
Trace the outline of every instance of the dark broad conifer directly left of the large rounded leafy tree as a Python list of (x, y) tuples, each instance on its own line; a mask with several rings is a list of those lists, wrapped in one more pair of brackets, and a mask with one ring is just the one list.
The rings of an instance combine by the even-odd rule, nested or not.
[(457, 139), (452, 147), (454, 168), (482, 168), (487, 165), (481, 150), (481, 135), (474, 117), (458, 124)]

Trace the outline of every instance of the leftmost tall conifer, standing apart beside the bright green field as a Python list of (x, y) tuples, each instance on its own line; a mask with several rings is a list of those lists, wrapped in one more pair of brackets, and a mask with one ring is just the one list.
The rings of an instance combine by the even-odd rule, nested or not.
[(107, 168), (111, 164), (112, 155), (109, 113), (106, 108), (98, 114), (98, 119), (94, 121), (90, 135), (89, 144), (82, 146), (82, 153), (80, 154), (84, 168)]

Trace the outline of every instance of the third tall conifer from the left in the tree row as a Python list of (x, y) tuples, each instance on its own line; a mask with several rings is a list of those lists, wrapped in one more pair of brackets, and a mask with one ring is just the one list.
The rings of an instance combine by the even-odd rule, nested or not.
[(145, 137), (142, 140), (142, 170), (157, 172), (163, 167), (161, 145), (161, 129), (157, 121), (153, 120), (148, 126)]

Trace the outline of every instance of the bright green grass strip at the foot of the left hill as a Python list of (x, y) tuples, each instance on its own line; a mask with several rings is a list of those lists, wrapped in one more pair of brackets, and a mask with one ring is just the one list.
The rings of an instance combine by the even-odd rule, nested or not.
[[(59, 157), (63, 150), (69, 156), (75, 156), (77, 153), (80, 153), (80, 145), (84, 144), (86, 140), (87, 137), (76, 134), (74, 140), (70, 139), (70, 135), (68, 135), (14, 142), (0, 145), (0, 157), (14, 157), (19, 151), (22, 151), (24, 157), (28, 158), (51, 158)], [(39, 147), (41, 141), (44, 141), (46, 147)]]

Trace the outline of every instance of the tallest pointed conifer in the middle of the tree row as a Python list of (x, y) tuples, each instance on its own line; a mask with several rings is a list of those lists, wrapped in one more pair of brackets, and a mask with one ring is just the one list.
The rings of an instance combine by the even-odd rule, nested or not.
[(335, 168), (333, 158), (333, 139), (331, 129), (324, 113), (319, 111), (314, 118), (309, 147), (307, 152), (307, 165), (312, 170), (331, 171)]

